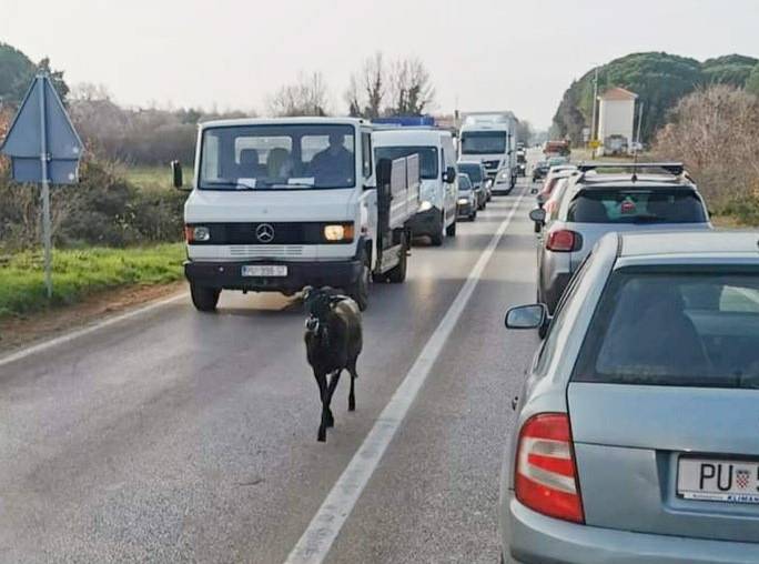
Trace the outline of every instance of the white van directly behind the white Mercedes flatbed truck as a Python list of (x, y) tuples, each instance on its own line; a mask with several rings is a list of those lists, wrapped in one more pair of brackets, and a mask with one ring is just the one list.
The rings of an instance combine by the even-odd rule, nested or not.
[[(381, 128), (377, 125), (377, 128)], [(427, 235), (436, 246), (456, 234), (456, 151), (449, 131), (436, 128), (375, 129), (375, 159), (419, 155), (421, 204), (411, 222), (414, 235)]]

